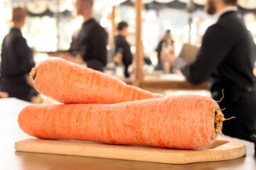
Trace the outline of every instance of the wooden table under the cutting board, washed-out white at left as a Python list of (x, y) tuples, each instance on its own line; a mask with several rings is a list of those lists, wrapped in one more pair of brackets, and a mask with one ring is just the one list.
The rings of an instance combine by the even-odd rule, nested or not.
[(228, 161), (182, 165), (16, 152), (14, 149), (16, 141), (31, 138), (20, 130), (17, 123), (18, 113), (28, 105), (31, 105), (31, 103), (16, 98), (0, 99), (0, 169), (256, 169), (254, 144), (247, 141), (244, 141), (247, 146), (247, 155), (245, 157)]

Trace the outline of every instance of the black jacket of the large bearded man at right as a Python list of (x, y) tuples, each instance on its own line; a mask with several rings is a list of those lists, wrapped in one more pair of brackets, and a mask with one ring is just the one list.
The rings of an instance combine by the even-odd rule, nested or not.
[(210, 91), (235, 87), (239, 90), (256, 90), (256, 47), (252, 35), (238, 18), (228, 11), (210, 26), (203, 36), (196, 60), (181, 69), (193, 84), (209, 80)]

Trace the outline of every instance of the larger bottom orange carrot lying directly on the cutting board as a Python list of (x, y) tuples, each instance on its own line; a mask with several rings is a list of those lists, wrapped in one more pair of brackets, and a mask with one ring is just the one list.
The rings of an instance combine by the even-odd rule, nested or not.
[(28, 135), (114, 145), (196, 149), (221, 134), (223, 114), (206, 96), (183, 95), (114, 104), (38, 104), (23, 108)]

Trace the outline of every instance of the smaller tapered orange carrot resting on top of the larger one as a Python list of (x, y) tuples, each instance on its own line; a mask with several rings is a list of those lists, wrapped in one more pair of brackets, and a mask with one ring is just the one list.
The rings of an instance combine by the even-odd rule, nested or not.
[(31, 71), (31, 77), (38, 92), (60, 103), (120, 103), (163, 97), (60, 59), (41, 62)]

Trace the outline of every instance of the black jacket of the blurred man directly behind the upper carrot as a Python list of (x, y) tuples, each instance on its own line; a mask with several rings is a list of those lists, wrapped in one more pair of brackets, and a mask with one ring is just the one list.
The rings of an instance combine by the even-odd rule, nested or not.
[(82, 23), (82, 27), (75, 33), (70, 45), (70, 51), (82, 51), (85, 62), (98, 60), (107, 64), (107, 33), (94, 18)]

